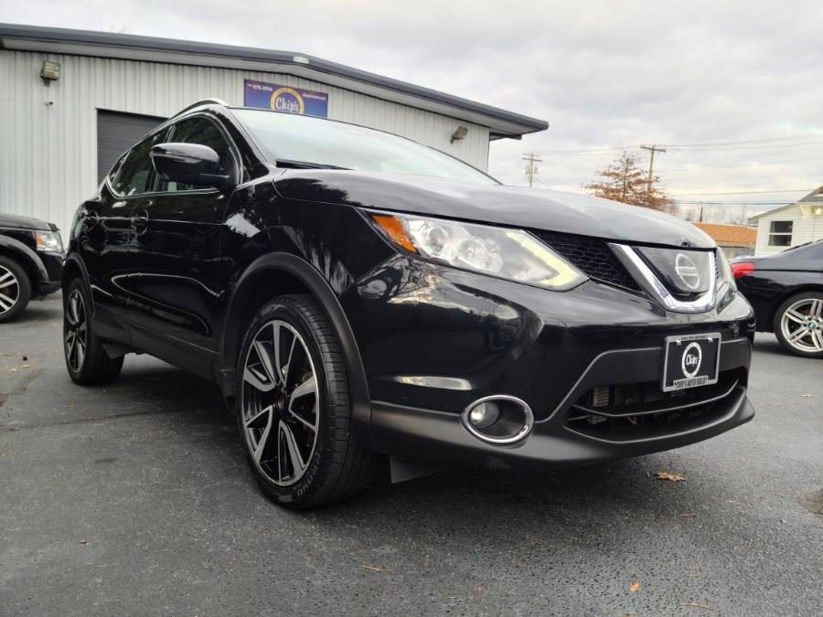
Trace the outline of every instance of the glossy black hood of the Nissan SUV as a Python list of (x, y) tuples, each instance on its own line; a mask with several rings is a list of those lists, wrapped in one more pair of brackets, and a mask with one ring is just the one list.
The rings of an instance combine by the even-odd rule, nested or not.
[(679, 218), (608, 199), (517, 186), (466, 184), (429, 176), (288, 170), (274, 179), (289, 199), (460, 218), (520, 229), (694, 249), (714, 240)]

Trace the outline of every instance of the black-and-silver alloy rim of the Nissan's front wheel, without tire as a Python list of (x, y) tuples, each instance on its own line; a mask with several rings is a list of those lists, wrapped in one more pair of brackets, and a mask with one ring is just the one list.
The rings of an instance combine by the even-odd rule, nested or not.
[(303, 337), (273, 320), (254, 335), (240, 388), (243, 436), (258, 469), (288, 486), (305, 474), (317, 444), (317, 375)]

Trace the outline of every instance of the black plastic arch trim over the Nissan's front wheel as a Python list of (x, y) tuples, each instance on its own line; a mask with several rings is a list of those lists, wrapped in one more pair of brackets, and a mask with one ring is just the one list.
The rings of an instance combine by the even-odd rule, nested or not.
[(284, 293), (307, 293), (320, 304), (343, 347), (351, 396), (352, 425), (374, 448), (369, 428), (371, 399), (366, 371), (351, 325), (337, 294), (310, 263), (291, 253), (267, 253), (252, 261), (231, 293), (219, 343), (218, 382), (226, 399), (236, 394), (236, 366), (244, 328), (262, 303)]

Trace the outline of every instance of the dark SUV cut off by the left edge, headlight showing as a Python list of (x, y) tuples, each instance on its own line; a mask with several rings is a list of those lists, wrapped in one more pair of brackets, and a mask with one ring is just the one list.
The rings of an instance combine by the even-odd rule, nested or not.
[(0, 212), (0, 323), (59, 290), (63, 257), (54, 223)]

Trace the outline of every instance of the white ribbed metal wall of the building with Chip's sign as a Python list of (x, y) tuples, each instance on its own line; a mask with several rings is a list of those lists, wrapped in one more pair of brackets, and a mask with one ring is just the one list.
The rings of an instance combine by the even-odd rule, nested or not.
[[(48, 88), (39, 79), (44, 59), (62, 68)], [(244, 79), (328, 92), (329, 118), (398, 133), (486, 169), (486, 127), (313, 80), (0, 50), (0, 211), (45, 218), (65, 236), (75, 208), (97, 188), (98, 109), (167, 117), (209, 97), (241, 105)], [(451, 144), (459, 124), (469, 132)]]

